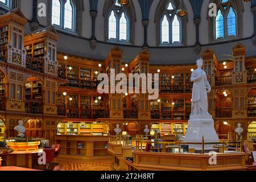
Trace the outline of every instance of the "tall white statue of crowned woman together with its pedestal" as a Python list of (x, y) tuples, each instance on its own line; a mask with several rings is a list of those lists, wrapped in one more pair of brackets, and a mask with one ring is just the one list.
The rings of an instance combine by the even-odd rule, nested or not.
[[(193, 82), (191, 114), (188, 120), (188, 129), (184, 137), (184, 142), (218, 142), (218, 135), (214, 129), (212, 115), (208, 113), (207, 93), (211, 87), (207, 80), (206, 73), (201, 69), (203, 60), (196, 61), (197, 69), (192, 72), (191, 81)], [(200, 145), (193, 146), (196, 150), (201, 150)], [(212, 148), (205, 146), (205, 149)]]

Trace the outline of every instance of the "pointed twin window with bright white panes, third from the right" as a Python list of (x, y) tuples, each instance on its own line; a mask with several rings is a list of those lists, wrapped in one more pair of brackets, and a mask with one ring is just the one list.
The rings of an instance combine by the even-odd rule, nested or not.
[(118, 0), (105, 1), (106, 40), (133, 43), (135, 11), (133, 2), (122, 6)]

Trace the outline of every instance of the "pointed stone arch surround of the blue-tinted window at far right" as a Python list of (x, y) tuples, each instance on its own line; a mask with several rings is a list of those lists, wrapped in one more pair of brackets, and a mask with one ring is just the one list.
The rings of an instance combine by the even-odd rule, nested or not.
[[(241, 37), (243, 35), (243, 16), (242, 15), (243, 15), (243, 11), (245, 11), (244, 6), (243, 6), (243, 1), (231, 0), (229, 2), (230, 2), (230, 5), (232, 5), (233, 10), (236, 12), (236, 15), (237, 15), (237, 36), (236, 37)], [(221, 0), (210, 0), (209, 4), (210, 3), (216, 3), (217, 9), (218, 9), (220, 7)], [(229, 7), (230, 6), (228, 6), (226, 9), (229, 10)], [(207, 7), (202, 7), (202, 10), (203, 10), (203, 8), (209, 9), (208, 5), (207, 5)], [(208, 37), (209, 37), (209, 40), (211, 42), (213, 42), (214, 41), (213, 27), (214, 27), (215, 18), (209, 17), (208, 11), (207, 11), (207, 19), (208, 19), (208, 30), (209, 30)]]

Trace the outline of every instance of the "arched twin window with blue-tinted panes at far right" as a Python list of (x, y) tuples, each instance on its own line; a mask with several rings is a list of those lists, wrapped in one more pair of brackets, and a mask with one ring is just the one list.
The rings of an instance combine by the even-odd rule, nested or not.
[(217, 4), (217, 16), (209, 20), (210, 28), (213, 28), (213, 36), (211, 35), (213, 40), (225, 40), (240, 36), (243, 3), (234, 0), (212, 0), (210, 3)]

